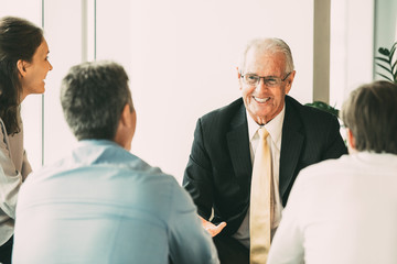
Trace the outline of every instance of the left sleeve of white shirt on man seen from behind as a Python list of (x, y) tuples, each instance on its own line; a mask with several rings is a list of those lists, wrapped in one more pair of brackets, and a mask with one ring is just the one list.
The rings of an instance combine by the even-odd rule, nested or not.
[(303, 184), (298, 176), (271, 242), (268, 264), (304, 263), (303, 232), (300, 219), (300, 216), (304, 215), (301, 208), (304, 202), (303, 195)]

